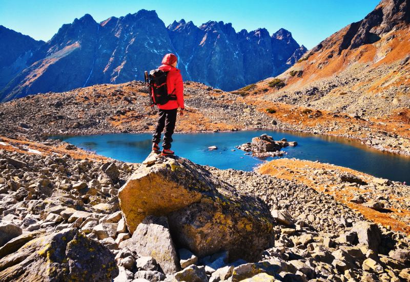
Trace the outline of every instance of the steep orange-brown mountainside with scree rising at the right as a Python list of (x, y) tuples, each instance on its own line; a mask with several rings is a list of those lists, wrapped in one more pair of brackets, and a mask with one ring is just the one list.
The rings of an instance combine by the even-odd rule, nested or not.
[(383, 0), (278, 76), (283, 88), (269, 87), (271, 78), (258, 88), (275, 102), (363, 117), (403, 114), (410, 105), (409, 23), (408, 0)]

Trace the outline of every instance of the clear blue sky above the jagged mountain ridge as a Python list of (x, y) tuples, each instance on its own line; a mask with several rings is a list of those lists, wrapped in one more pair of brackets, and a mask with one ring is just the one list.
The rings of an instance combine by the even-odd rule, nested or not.
[[(91, 14), (97, 22), (140, 9), (156, 10), (168, 26), (184, 18), (199, 26), (208, 21), (232, 23), (238, 32), (259, 27), (269, 33), (285, 28), (308, 49), (371, 12), (379, 0), (0, 0), (0, 25), (48, 41), (63, 24)], [(1, 38), (0, 38), (1, 39)]]

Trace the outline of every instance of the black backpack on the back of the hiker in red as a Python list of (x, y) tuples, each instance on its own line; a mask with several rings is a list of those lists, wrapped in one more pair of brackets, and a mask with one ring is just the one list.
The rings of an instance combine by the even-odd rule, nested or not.
[(176, 95), (174, 94), (175, 89), (172, 93), (168, 93), (167, 74), (167, 71), (160, 69), (150, 71), (150, 95), (152, 97), (152, 104), (154, 105), (165, 105), (169, 100), (176, 100)]

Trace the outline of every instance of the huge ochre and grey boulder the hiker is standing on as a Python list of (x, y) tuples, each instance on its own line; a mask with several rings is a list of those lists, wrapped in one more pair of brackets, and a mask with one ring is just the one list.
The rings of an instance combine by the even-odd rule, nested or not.
[(256, 261), (273, 245), (273, 218), (262, 200), (185, 158), (140, 166), (118, 197), (131, 233), (146, 216), (165, 215), (177, 246), (199, 257), (226, 250), (230, 260)]

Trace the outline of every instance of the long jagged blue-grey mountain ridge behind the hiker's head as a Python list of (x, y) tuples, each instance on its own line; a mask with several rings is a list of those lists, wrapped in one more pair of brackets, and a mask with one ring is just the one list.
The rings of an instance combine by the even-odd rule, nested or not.
[(232, 24), (196, 27), (183, 19), (166, 27), (147, 10), (101, 23), (86, 14), (37, 44), (24, 68), (3, 83), (0, 100), (143, 79), (169, 52), (179, 57), (185, 79), (234, 90), (281, 73), (306, 51), (284, 29), (271, 37), (266, 29), (237, 33)]

